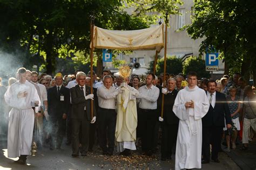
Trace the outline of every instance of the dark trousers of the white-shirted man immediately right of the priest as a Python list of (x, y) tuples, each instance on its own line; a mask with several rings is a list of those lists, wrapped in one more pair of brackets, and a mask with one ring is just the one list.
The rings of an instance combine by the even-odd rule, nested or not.
[(154, 148), (154, 132), (157, 122), (157, 110), (145, 110), (140, 108), (141, 117), (138, 120), (142, 130), (142, 151), (152, 151)]

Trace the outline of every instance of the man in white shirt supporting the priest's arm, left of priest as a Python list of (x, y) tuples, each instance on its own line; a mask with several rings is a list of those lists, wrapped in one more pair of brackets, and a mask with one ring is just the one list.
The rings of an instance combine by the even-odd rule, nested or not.
[[(99, 146), (103, 150), (103, 155), (113, 155), (117, 119), (115, 99), (117, 94), (121, 93), (121, 90), (112, 86), (113, 80), (109, 75), (103, 77), (103, 83), (103, 86), (100, 86), (97, 90), (99, 101), (97, 114)], [(108, 141), (108, 147), (106, 146), (106, 141)]]

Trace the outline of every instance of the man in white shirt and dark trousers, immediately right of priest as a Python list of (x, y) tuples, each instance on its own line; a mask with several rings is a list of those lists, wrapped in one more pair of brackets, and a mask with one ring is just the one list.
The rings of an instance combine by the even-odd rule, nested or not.
[(139, 88), (138, 126), (142, 133), (143, 154), (152, 155), (154, 128), (157, 121), (157, 99), (159, 89), (153, 85), (154, 74), (146, 76), (146, 85)]

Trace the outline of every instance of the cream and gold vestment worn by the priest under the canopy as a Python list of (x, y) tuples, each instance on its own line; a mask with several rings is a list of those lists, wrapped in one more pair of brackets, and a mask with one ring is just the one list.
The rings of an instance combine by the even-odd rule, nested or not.
[(137, 106), (135, 96), (139, 93), (133, 87), (125, 84), (120, 87), (123, 91), (117, 96), (116, 141), (117, 151), (125, 148), (136, 150)]

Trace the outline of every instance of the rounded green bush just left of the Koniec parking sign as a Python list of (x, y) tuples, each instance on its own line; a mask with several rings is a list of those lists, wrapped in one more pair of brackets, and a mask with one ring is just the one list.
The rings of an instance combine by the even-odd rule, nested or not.
[(183, 64), (183, 74), (186, 75), (190, 71), (195, 71), (200, 78), (210, 78), (209, 72), (205, 71), (205, 61), (198, 57), (189, 57)]

